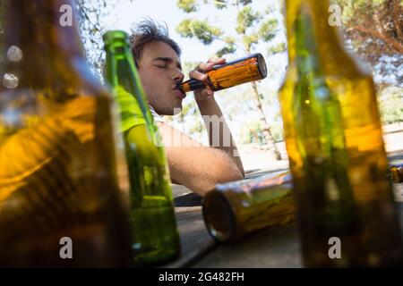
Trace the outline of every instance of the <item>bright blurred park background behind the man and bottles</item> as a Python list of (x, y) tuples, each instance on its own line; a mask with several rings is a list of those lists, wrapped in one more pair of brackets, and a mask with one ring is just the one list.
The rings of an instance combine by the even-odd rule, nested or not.
[[(233, 132), (244, 169), (287, 166), (278, 90), (287, 69), (284, 0), (77, 0), (87, 57), (101, 79), (102, 34), (145, 18), (166, 24), (182, 47), (185, 80), (198, 63), (219, 55), (234, 60), (262, 53), (269, 74), (257, 83), (215, 97)], [(345, 44), (372, 69), (388, 152), (403, 151), (403, 0), (335, 0)], [(338, 10), (333, 10), (338, 13)], [(337, 15), (336, 15), (337, 16)], [(0, 33), (3, 32), (0, 19)], [(1, 60), (1, 59), (0, 59)], [(359, 96), (359, 95), (357, 95)], [(358, 108), (358, 107), (357, 107)], [(201, 115), (189, 93), (184, 110), (165, 120), (207, 143)], [(274, 140), (275, 144), (269, 144)]]

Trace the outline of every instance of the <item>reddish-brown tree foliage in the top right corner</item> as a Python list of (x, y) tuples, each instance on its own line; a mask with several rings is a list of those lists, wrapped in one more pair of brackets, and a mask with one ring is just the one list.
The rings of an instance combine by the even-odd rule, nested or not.
[(377, 87), (403, 85), (403, 1), (336, 0), (347, 46), (371, 64)]

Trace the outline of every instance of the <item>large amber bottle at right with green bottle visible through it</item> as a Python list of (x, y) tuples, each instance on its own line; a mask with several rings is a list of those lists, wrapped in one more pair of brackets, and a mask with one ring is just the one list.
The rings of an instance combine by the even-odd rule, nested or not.
[(399, 265), (372, 75), (344, 50), (329, 6), (287, 0), (289, 66), (279, 101), (304, 265)]

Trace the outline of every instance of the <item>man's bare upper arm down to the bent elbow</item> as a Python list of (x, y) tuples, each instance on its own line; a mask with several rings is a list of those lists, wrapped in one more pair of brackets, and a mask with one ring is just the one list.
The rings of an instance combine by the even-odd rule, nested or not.
[(201, 146), (167, 123), (158, 122), (158, 126), (167, 152), (172, 181), (203, 196), (218, 183), (243, 179), (236, 164), (226, 153)]

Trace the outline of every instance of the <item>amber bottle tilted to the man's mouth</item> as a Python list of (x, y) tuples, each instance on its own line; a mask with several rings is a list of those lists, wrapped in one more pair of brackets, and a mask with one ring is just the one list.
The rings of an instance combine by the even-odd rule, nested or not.
[(189, 92), (206, 87), (214, 91), (231, 88), (245, 82), (266, 78), (267, 68), (262, 54), (253, 54), (233, 62), (218, 64), (206, 74), (208, 77), (205, 82), (186, 80), (178, 85), (178, 89)]

